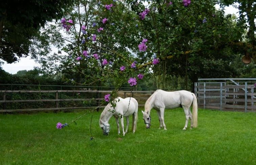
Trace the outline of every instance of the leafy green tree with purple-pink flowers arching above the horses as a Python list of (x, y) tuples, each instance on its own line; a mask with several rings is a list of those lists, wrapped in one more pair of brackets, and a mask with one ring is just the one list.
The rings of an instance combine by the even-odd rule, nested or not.
[(204, 60), (219, 58), (218, 52), (242, 39), (215, 0), (148, 3), (76, 1), (61, 25), (68, 36), (67, 64), (85, 77), (82, 83), (101, 86), (112, 79), (117, 91), (122, 84), (134, 87), (151, 70), (164, 87), (167, 71), (174, 69), (197, 80)]

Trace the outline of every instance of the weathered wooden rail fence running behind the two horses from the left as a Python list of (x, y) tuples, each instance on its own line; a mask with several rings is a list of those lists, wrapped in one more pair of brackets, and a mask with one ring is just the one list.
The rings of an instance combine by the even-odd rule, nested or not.
[[(97, 106), (79, 106), (79, 107), (60, 107), (61, 102), (70, 102), (70, 101), (91, 101), (92, 98), (83, 98), (83, 99), (61, 99), (59, 97), (60, 93), (63, 92), (72, 92), (72, 93), (96, 93), (97, 96), (101, 96), (107, 93), (111, 93), (112, 91), (109, 90), (0, 90), (0, 94), (3, 94), (3, 100), (0, 100), (2, 103), (2, 109), (0, 107), (0, 112), (17, 112), (17, 111), (45, 111), (45, 110), (55, 110), (58, 112), (59, 110), (72, 110), (72, 109), (93, 109), (93, 108), (103, 108), (104, 106), (98, 106), (99, 103), (104, 100), (104, 98), (94, 98), (93, 101), (97, 103)], [(118, 96), (122, 98), (126, 97), (134, 97), (139, 106), (144, 106), (144, 102), (149, 98), (149, 96), (154, 91), (118, 91)], [(7, 100), (6, 94), (7, 93), (55, 93), (54, 99), (40, 99), (40, 100)], [(31, 102), (31, 103), (39, 103), (39, 102), (55, 102), (54, 107), (50, 108), (30, 108), (30, 109), (7, 109), (7, 103), (23, 103), (23, 102)], [(141, 104), (140, 104), (141, 103)]]

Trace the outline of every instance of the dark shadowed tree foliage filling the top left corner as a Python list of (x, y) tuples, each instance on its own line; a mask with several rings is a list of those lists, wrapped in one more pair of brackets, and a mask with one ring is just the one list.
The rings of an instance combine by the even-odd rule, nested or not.
[(0, 2), (0, 59), (13, 63), (21, 57), (49, 53), (47, 35), (40, 27), (60, 19), (72, 0), (15, 0)]

